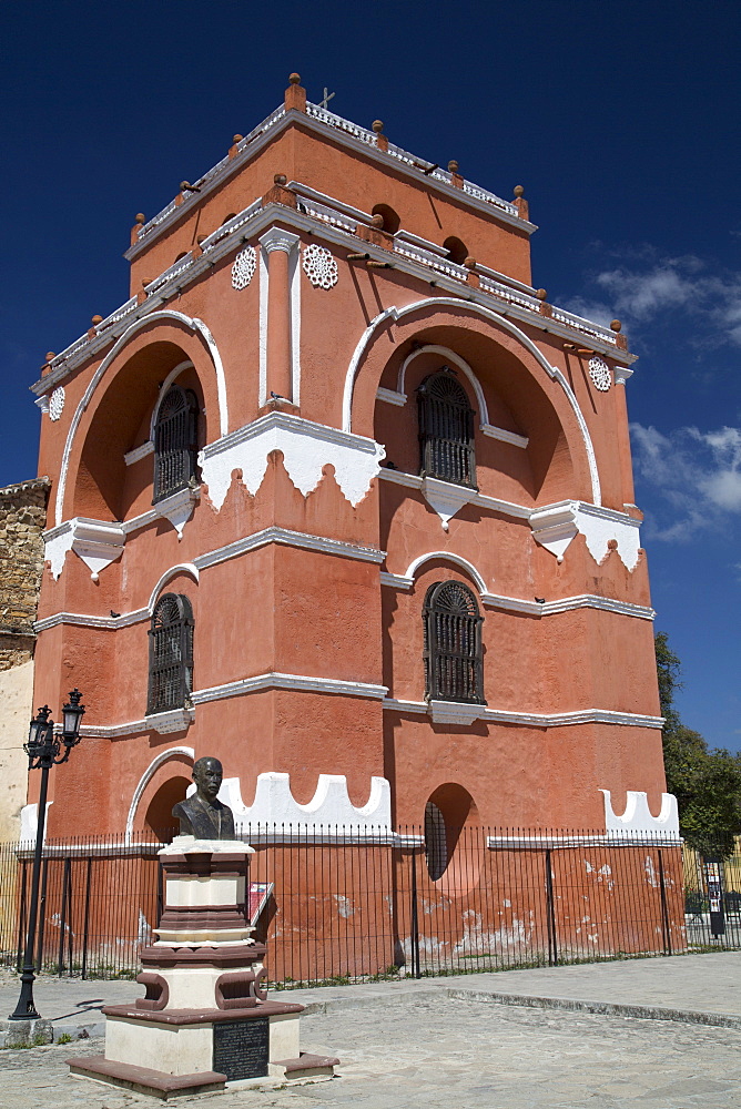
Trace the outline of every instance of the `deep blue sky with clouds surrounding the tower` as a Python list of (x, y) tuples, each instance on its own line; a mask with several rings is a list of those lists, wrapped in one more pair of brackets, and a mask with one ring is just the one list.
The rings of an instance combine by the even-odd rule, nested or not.
[(623, 321), (657, 628), (684, 722), (741, 750), (740, 40), (737, 0), (6, 0), (0, 485), (35, 474), (44, 353), (126, 299), (134, 214), (297, 70), (407, 150), (524, 184), (535, 285)]

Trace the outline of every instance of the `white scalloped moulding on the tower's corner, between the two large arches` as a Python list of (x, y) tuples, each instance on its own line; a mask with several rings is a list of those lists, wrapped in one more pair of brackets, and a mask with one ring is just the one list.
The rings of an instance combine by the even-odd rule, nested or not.
[(235, 469), (242, 470), (247, 490), (253, 496), (257, 492), (272, 450), (283, 452), (288, 477), (304, 497), (322, 480), (322, 468), (334, 466), (337, 485), (353, 507), (367, 494), (386, 456), (380, 444), (364, 436), (286, 413), (268, 413), (200, 452), (203, 480), (216, 510), (224, 503)]

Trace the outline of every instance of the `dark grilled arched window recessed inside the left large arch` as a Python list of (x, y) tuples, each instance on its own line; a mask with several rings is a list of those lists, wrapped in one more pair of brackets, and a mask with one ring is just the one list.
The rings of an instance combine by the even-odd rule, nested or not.
[(152, 503), (186, 489), (195, 478), (199, 406), (191, 389), (168, 389), (154, 427), (154, 496)]

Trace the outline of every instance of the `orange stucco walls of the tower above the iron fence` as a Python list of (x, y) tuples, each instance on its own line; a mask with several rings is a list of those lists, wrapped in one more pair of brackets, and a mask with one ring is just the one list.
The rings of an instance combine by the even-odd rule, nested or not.
[[(529, 282), (524, 231), (467, 206), (464, 199), (441, 195), (432, 182), (410, 182), (388, 165), (317, 136), (298, 121), (182, 220), (152, 236), (132, 264), (132, 292), (190, 251), (199, 236), (267, 192), (276, 172), (365, 211), (387, 204), (405, 230), (436, 243), (455, 235), (479, 262)], [(276, 206), (273, 223), (291, 230), (290, 210), (282, 214)], [(319, 241), (303, 226), (296, 233), (300, 250)], [(258, 237), (247, 236), (248, 245), (258, 250)], [(123, 553), (97, 580), (78, 553), (69, 551), (57, 580), (49, 569), (44, 572), (39, 619), (71, 613), (85, 620), (65, 618), (41, 632), (37, 695), (55, 704), (79, 685), (88, 705), (85, 726), (109, 732), (105, 737), (88, 735), (84, 753), (81, 747), (52, 775), (51, 834), (120, 831), (140, 780), (171, 746), (193, 747), (195, 757), (221, 757), (226, 776), (240, 779), (247, 805), (257, 775), (277, 771), (291, 774), (300, 803), (312, 798), (319, 774), (345, 775), (356, 806), (366, 803), (370, 777), (385, 776), (392, 786), (393, 817), (400, 823), (419, 823), (427, 800), (449, 782), (468, 791), (484, 824), (593, 828), (603, 821), (600, 788), (612, 791), (618, 811), (627, 790), (647, 791), (658, 812), (664, 779), (656, 726), (629, 720), (558, 726), (493, 720), (435, 724), (424, 706), (384, 706), (377, 693), (385, 685), (395, 701), (423, 702), (422, 606), (433, 582), (451, 578), (478, 593), (474, 577), (447, 554), (465, 559), (488, 593), (505, 598), (532, 602), (591, 594), (650, 603), (643, 554), (632, 570), (618, 550), (596, 561), (578, 535), (559, 562), (535, 541), (525, 518), (534, 508), (593, 499), (575, 405), (593, 445), (602, 503), (619, 512), (631, 505), (625, 387), (597, 391), (583, 353), (573, 344), (565, 347), (535, 319), (515, 328), (494, 311), (464, 299), (449, 303), (447, 294), (410, 273), (356, 265), (347, 260), (349, 248), (331, 244), (338, 267), (334, 287), (313, 286), (301, 266), (294, 278), (293, 287), (298, 282), (301, 293), (300, 309), (298, 302), (292, 302), (300, 327), (301, 404), (263, 405), (261, 297), (270, 305), (273, 294), (262, 284), (268, 271), (261, 266), (246, 288), (232, 286), (231, 266), (243, 245), (235, 242), (234, 251), (207, 275), (186, 284), (163, 306), (181, 313), (185, 322), (154, 313), (118, 353), (111, 344), (64, 379), (63, 418), (44, 419), (40, 447), (40, 472), (54, 482), (50, 527), (73, 517), (132, 521), (150, 511), (152, 454), (129, 466), (124, 455), (146, 444), (162, 381), (182, 363), (176, 380), (196, 394), (203, 447), (220, 438), (224, 424), (234, 433), (273, 411), (341, 431), (348, 367), (355, 358), (352, 431), (382, 444), (386, 461), (414, 477), (419, 466), (415, 390), (446, 364), (446, 355), (425, 353), (409, 360), (403, 406), (378, 400), (376, 394), (378, 388), (395, 393), (405, 360), (428, 345), (453, 352), (470, 367), (489, 425), (527, 438), (522, 447), (485, 435), (479, 427), (480, 395), (466, 374), (458, 373), (476, 411), (478, 490), (521, 511), (518, 516), (469, 503), (445, 531), (414, 482), (375, 477), (353, 505), (343, 492), (342, 475), (327, 461), (315, 488), (302, 494), (281, 450), (272, 449), (258, 489), (247, 491), (237, 467), (219, 509), (202, 481), (182, 538), (165, 519), (145, 522), (128, 533)], [(392, 307), (400, 313), (397, 318), (389, 316), (373, 334), (366, 333)], [(189, 321), (207, 326), (213, 347)], [(104, 358), (104, 372), (83, 406)], [(309, 436), (309, 454), (319, 450), (312, 444)], [(62, 477), (65, 489), (58, 518)], [(312, 541), (268, 541), (236, 551), (200, 572), (175, 572), (160, 592), (191, 599), (195, 691), (271, 674), (316, 680), (317, 689), (275, 688), (266, 681), (254, 691), (235, 690), (197, 703), (186, 728), (160, 734), (144, 722), (146, 608), (158, 582), (171, 568), (199, 563), (210, 552), (270, 528)], [(323, 548), (325, 540), (348, 546), (339, 553), (326, 543)], [(353, 553), (353, 547), (366, 553)], [(377, 558), (374, 551), (380, 552)], [(410, 588), (382, 582), (382, 573), (403, 577), (429, 552), (438, 553), (422, 563)], [(484, 691), (490, 710), (658, 714), (649, 620), (593, 607), (548, 615), (484, 602), (480, 609)], [(93, 627), (88, 619), (110, 622), (118, 619), (113, 613), (132, 612), (140, 615), (129, 625)], [(337, 692), (323, 689), (323, 681), (359, 683), (361, 689)], [(140, 824), (158, 791), (171, 779), (184, 780), (187, 765), (187, 757), (174, 755), (152, 774), (138, 808)]]

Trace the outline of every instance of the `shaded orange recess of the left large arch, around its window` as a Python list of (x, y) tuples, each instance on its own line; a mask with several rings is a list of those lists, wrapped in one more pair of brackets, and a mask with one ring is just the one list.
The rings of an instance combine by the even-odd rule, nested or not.
[(77, 472), (70, 467), (69, 516), (123, 520), (151, 507), (152, 455), (130, 466), (125, 455), (150, 439), (152, 414), (162, 387), (173, 379), (194, 391), (200, 409), (199, 441), (207, 441), (215, 414), (210, 410), (201, 375), (186, 352), (171, 340), (145, 343), (115, 369), (111, 367), (95, 391), (87, 427), (81, 426), (78, 433), (81, 442)]

